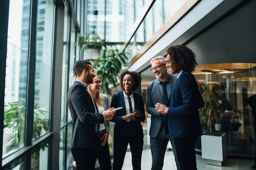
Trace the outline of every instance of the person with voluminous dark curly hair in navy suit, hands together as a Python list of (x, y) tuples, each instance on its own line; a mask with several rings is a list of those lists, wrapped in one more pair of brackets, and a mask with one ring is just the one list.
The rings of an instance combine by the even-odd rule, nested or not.
[(177, 73), (168, 107), (157, 103), (155, 109), (168, 117), (168, 132), (175, 143), (175, 161), (180, 170), (196, 170), (195, 141), (202, 135), (198, 108), (204, 106), (198, 82), (191, 74), (197, 65), (195, 54), (183, 45), (167, 49), (166, 67)]

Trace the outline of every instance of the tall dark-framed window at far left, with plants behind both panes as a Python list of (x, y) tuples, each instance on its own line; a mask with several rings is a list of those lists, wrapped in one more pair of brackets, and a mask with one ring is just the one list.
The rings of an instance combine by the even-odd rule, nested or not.
[(50, 117), (53, 114), (54, 1), (5, 3), (9, 3), (9, 18), (1, 169), (47, 170), (53, 121)]

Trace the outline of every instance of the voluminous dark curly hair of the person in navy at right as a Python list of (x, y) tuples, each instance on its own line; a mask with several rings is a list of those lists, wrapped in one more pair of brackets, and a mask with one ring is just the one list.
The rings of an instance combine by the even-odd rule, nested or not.
[(174, 60), (175, 65), (180, 66), (182, 70), (193, 72), (197, 62), (195, 60), (195, 53), (184, 45), (170, 46), (167, 51), (171, 59)]

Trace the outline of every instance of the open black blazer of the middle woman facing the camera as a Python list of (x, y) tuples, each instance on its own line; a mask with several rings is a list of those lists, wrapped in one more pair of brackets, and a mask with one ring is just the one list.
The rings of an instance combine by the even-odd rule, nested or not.
[[(133, 97), (134, 97), (134, 105), (135, 105), (135, 110), (140, 110), (142, 113), (141, 117), (136, 117), (136, 123), (138, 126), (139, 131), (141, 132), (141, 134), (143, 135), (143, 129), (142, 129), (142, 125), (141, 122), (144, 121), (146, 119), (146, 115), (145, 115), (145, 108), (144, 108), (144, 102), (143, 102), (143, 98), (142, 95), (139, 95), (137, 93), (133, 92)], [(117, 108), (117, 107), (123, 107), (120, 110), (117, 110), (116, 115), (113, 117), (112, 122), (115, 122), (115, 134), (121, 133), (123, 134), (123, 126), (122, 124), (125, 123), (125, 120), (122, 120), (122, 116), (126, 115), (126, 108), (125, 108), (125, 103), (124, 103), (124, 92), (120, 91), (118, 93), (115, 93), (112, 95), (112, 100), (111, 100), (111, 104), (110, 104), (110, 108)]]

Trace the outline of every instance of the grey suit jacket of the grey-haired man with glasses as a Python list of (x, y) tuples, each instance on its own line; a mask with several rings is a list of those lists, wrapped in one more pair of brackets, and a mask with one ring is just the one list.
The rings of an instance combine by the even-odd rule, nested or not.
[[(173, 88), (175, 82), (177, 81), (177, 77), (170, 74), (169, 77), (171, 88)], [(168, 99), (170, 99), (170, 95), (168, 96)], [(149, 130), (150, 137), (157, 137), (162, 124), (163, 116), (155, 110), (155, 104), (158, 102), (163, 103), (163, 100), (161, 97), (158, 80), (155, 79), (148, 84), (146, 97), (146, 110), (151, 115), (151, 125)]]

